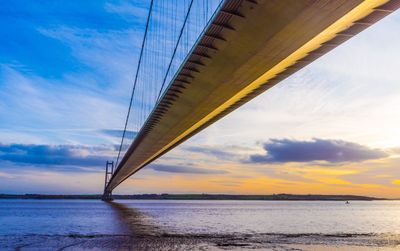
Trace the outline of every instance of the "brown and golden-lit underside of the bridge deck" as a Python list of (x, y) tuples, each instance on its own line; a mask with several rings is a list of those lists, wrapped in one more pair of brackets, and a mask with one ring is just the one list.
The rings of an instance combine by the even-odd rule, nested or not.
[(225, 1), (125, 154), (107, 190), (394, 11), (399, 2)]

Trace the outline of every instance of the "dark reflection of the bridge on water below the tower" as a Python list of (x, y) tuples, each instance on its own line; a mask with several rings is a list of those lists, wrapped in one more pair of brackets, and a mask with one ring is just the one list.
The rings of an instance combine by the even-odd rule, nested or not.
[(139, 209), (123, 203), (106, 202), (115, 212), (120, 227), (131, 236), (159, 236), (161, 228), (151, 221), (150, 216)]

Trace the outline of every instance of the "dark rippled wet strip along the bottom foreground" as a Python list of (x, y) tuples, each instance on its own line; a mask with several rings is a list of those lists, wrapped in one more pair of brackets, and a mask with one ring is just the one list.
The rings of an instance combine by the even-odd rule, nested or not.
[(247, 236), (131, 236), (24, 235), (0, 236), (1, 250), (399, 250), (387, 236), (247, 235)]

